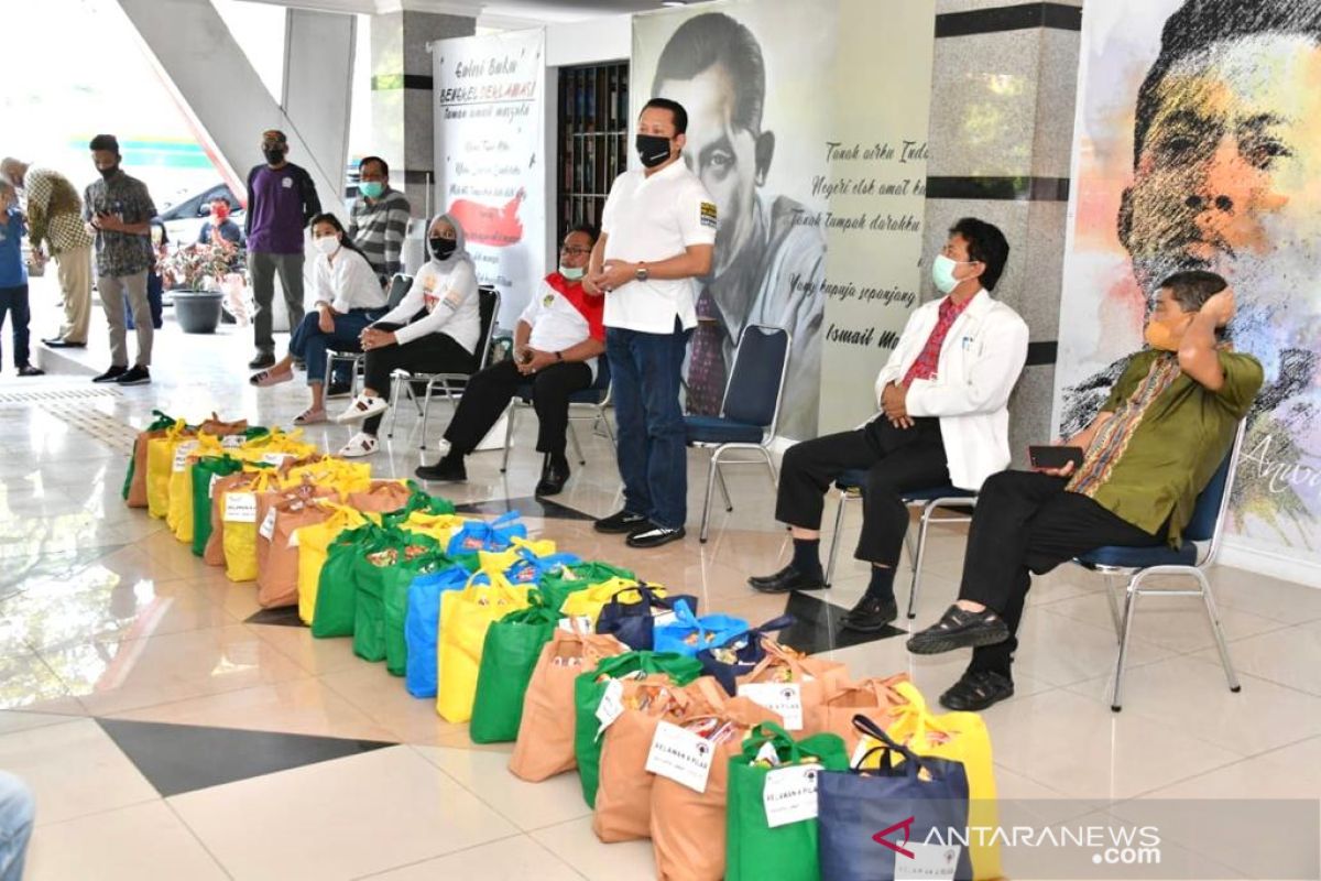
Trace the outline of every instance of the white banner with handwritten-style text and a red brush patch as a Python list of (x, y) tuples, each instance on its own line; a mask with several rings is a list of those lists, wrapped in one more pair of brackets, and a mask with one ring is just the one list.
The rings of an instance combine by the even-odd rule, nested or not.
[(546, 275), (546, 32), (432, 44), (437, 205), (468, 238), (511, 329)]

